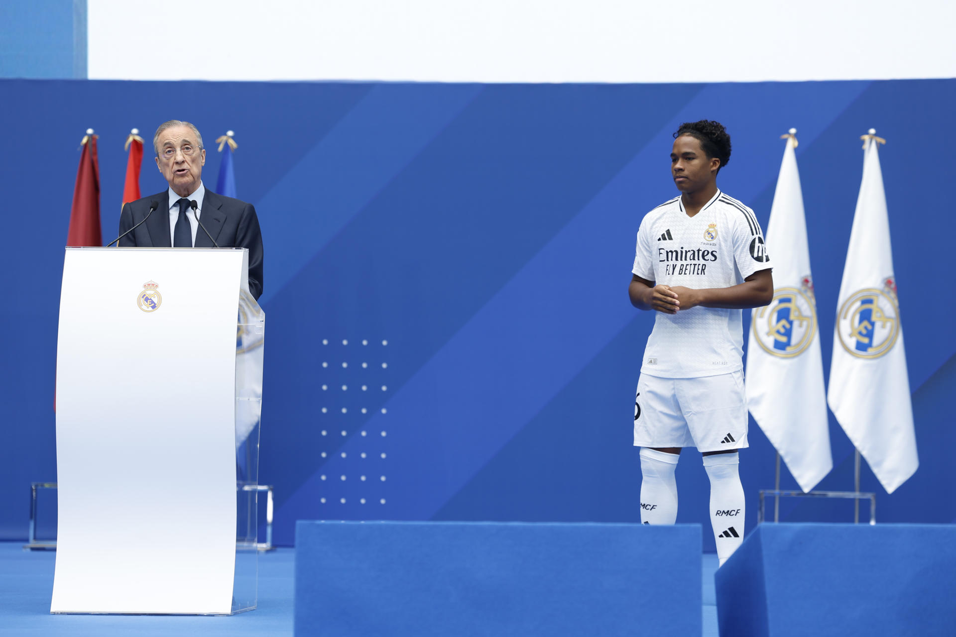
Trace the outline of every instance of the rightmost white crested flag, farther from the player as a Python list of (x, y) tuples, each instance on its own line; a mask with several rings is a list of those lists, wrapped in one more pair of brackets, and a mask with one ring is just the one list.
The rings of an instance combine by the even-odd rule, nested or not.
[(836, 311), (827, 400), (887, 493), (920, 465), (890, 226), (877, 141), (870, 131)]

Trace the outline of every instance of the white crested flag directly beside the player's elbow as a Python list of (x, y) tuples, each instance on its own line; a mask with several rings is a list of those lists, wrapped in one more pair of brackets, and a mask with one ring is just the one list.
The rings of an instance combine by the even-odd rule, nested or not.
[(787, 139), (767, 224), (773, 300), (750, 312), (747, 404), (797, 484), (810, 491), (833, 457), (795, 143)]

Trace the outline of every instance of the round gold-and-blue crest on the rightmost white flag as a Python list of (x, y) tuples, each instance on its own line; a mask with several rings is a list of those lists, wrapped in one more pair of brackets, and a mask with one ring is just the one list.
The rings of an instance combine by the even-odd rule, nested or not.
[(900, 336), (896, 280), (886, 277), (882, 289), (851, 294), (836, 315), (836, 333), (843, 349), (860, 358), (879, 358), (893, 349)]

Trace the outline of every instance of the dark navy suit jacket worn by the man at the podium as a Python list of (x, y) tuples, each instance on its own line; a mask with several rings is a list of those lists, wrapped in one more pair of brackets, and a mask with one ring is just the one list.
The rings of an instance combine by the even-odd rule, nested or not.
[[(149, 212), (149, 202), (159, 206), (146, 223), (120, 239), (122, 247), (170, 247), (169, 236), (169, 191), (143, 197), (129, 202), (120, 213), (120, 234), (140, 223)], [(249, 248), (249, 291), (259, 299), (262, 296), (262, 234), (259, 219), (251, 203), (240, 202), (231, 197), (217, 195), (206, 188), (206, 197), (200, 205), (199, 220), (220, 247)], [(212, 247), (203, 228), (196, 229), (194, 247)]]

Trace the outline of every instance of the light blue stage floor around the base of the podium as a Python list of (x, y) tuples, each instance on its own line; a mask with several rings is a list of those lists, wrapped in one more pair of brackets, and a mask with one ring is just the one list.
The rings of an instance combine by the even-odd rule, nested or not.
[[(259, 607), (231, 617), (150, 615), (51, 615), (53, 551), (25, 551), (20, 542), (0, 542), (0, 635), (3, 637), (243, 637), (293, 634), (295, 551), (280, 548), (259, 556)], [(704, 637), (717, 637), (714, 571), (717, 556), (703, 558)]]

